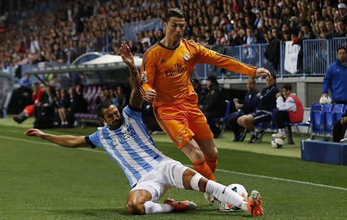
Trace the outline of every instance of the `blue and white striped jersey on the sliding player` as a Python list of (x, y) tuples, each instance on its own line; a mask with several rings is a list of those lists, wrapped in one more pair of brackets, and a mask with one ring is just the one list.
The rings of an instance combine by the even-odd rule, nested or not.
[(165, 157), (155, 146), (142, 122), (142, 111), (127, 105), (122, 112), (123, 125), (116, 130), (98, 127), (98, 131), (86, 136), (91, 148), (103, 147), (123, 169), (130, 186), (151, 171)]

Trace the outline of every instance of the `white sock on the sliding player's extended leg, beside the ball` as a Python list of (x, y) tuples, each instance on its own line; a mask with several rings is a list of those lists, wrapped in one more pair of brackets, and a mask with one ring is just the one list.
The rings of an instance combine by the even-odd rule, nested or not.
[(244, 198), (241, 195), (234, 192), (229, 187), (222, 185), (220, 183), (216, 183), (215, 181), (208, 180), (206, 185), (206, 192), (212, 194), (214, 197), (219, 199), (222, 202), (226, 202), (227, 204), (232, 204), (244, 211), (249, 211), (247, 209), (248, 202), (244, 201)]

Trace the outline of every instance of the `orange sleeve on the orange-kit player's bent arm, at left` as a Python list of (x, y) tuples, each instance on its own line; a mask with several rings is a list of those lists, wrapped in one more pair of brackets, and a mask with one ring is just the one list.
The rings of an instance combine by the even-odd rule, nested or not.
[(149, 88), (153, 88), (154, 76), (156, 72), (155, 58), (149, 57), (150, 50), (144, 53), (141, 66), (141, 80), (142, 86), (140, 87), (140, 93), (144, 100), (147, 102), (153, 102), (154, 100), (148, 100), (146, 96), (146, 91)]

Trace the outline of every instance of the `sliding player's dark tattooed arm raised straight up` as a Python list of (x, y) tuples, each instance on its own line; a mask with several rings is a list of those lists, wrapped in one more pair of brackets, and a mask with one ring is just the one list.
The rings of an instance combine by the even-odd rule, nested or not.
[(129, 103), (136, 108), (142, 108), (142, 97), (140, 93), (140, 74), (137, 70), (134, 62), (134, 57), (132, 56), (130, 47), (128, 45), (120, 45), (120, 56), (122, 57), (123, 62), (127, 64), (130, 71), (131, 94)]

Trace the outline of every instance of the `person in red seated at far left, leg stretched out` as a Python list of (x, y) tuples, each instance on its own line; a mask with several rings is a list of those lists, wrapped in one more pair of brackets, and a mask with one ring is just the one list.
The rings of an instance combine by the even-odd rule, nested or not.
[(33, 86), (33, 94), (31, 95), (31, 98), (34, 102), (33, 105), (27, 105), (24, 110), (19, 113), (19, 115), (14, 115), (13, 120), (15, 120), (18, 124), (21, 124), (24, 122), (28, 117), (34, 115), (35, 105), (38, 105), (41, 100), (41, 95), (43, 93), (43, 89), (40, 87), (39, 83), (34, 83)]

